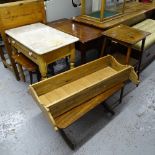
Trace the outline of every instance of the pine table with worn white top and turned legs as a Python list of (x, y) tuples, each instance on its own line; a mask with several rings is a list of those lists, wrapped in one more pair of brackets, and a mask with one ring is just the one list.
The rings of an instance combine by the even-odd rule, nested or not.
[(47, 76), (47, 65), (66, 56), (70, 67), (75, 63), (75, 45), (79, 39), (42, 23), (34, 23), (6, 30), (14, 52), (21, 52), (39, 66), (42, 78)]

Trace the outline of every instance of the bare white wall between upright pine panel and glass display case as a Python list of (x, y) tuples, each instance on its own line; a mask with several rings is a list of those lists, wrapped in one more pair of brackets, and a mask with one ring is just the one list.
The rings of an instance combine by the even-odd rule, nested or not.
[(49, 0), (46, 2), (47, 21), (80, 15), (80, 8), (72, 6), (72, 0)]

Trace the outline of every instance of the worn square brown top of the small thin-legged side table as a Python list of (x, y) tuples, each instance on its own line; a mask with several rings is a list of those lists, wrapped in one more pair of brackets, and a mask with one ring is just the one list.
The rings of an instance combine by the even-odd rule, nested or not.
[(134, 45), (151, 33), (121, 24), (119, 26), (102, 32), (102, 34), (103, 36), (110, 38), (114, 41), (118, 41), (119, 43)]

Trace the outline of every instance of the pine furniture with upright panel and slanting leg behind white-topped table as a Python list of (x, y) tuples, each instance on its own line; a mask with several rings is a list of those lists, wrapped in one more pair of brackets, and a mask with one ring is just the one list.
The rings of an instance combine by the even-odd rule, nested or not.
[(17, 80), (20, 77), (5, 30), (36, 22), (46, 22), (43, 0), (19, 1), (0, 5), (0, 33), (11, 64), (8, 64), (3, 53), (1, 53), (1, 58), (3, 64), (13, 70)]

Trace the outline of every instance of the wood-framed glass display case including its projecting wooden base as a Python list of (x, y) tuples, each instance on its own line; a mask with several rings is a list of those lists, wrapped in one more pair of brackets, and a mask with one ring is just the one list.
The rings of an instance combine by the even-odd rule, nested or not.
[(123, 16), (129, 0), (81, 0), (81, 14), (73, 20), (103, 28), (104, 23)]

